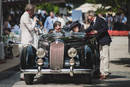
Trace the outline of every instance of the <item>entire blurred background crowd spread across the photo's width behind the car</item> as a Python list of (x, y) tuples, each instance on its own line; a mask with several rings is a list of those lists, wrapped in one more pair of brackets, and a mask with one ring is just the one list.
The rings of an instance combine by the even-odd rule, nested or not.
[[(20, 36), (20, 16), (21, 15), (15, 15), (13, 11), (10, 12), (9, 15), (6, 15), (4, 17), (4, 26), (3, 26), (3, 34), (4, 34), (4, 41), (7, 40), (7, 38), (10, 38), (10, 35), (15, 35), (17, 37)], [(44, 33), (49, 32), (49, 30), (53, 29), (53, 23), (55, 21), (61, 22), (61, 27), (64, 28), (66, 26), (69, 26), (69, 24), (72, 23), (72, 16), (66, 16), (63, 14), (54, 14), (53, 11), (51, 11), (49, 14), (45, 10), (38, 10), (33, 16), (36, 16), (40, 26), (36, 24), (37, 27), (40, 27), (43, 29)], [(98, 14), (99, 17), (103, 18), (107, 24), (108, 24), (108, 30), (127, 30), (127, 17), (124, 13), (116, 14), (115, 16), (112, 16), (112, 14), (108, 15), (101, 15)], [(87, 29), (87, 27), (90, 25), (89, 21), (86, 23), (82, 23), (83, 28)], [(87, 27), (86, 27), (87, 26)], [(13, 34), (12, 34), (13, 33)], [(13, 36), (12, 36), (13, 37)], [(17, 40), (20, 38), (17, 38)]]

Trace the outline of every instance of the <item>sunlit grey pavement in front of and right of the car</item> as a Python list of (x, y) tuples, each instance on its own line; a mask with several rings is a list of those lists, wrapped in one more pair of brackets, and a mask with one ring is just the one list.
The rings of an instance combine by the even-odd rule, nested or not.
[(112, 72), (109, 79), (100, 81), (93, 80), (93, 84), (88, 85), (74, 82), (67, 76), (45, 76), (44, 78), (35, 79), (34, 85), (25, 85), (24, 81), (19, 80), (18, 70), (5, 72), (4, 74), (13, 73), (7, 79), (0, 80), (0, 87), (130, 87), (130, 55), (128, 53), (127, 37), (112, 37), (110, 47), (110, 71)]

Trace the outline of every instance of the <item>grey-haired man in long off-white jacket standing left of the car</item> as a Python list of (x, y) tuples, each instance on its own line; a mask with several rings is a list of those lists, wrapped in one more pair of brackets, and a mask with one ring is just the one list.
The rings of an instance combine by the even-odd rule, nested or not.
[[(27, 44), (34, 43), (33, 31), (35, 29), (36, 17), (33, 18), (35, 6), (32, 4), (27, 4), (25, 7), (25, 12), (20, 19), (20, 29), (21, 29), (21, 43), (26, 46)], [(24, 79), (23, 73), (20, 76)]]

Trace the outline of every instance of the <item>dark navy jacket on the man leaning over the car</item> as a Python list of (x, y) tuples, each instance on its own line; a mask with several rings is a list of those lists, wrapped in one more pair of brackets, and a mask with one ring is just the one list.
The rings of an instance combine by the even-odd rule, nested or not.
[(108, 26), (104, 19), (100, 17), (96, 17), (96, 21), (91, 23), (86, 32), (90, 32), (91, 30), (97, 30), (97, 40), (100, 45), (109, 45), (111, 40), (110, 35), (108, 34)]

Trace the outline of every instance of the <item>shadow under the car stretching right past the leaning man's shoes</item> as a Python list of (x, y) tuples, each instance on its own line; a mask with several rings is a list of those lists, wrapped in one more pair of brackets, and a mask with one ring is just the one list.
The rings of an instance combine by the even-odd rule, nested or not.
[[(117, 76), (117, 75), (111, 75), (107, 81), (99, 80), (99, 79), (94, 79), (92, 80), (91, 84), (87, 84), (85, 82), (85, 78), (79, 78), (79, 76), (75, 76), (74, 78), (70, 78), (69, 75), (45, 75), (39, 78), (38, 80), (34, 81), (34, 85), (38, 84), (84, 84), (86, 87), (92, 86), (92, 87), (97, 87), (98, 85), (104, 84), (105, 85), (114, 85), (115, 83), (111, 81), (111, 79), (118, 79), (118, 78), (125, 78), (125, 76)], [(118, 83), (118, 82), (117, 82)], [(120, 82), (119, 82), (120, 83)], [(129, 81), (130, 83), (130, 81)], [(115, 84), (115, 87), (116, 86)]]

